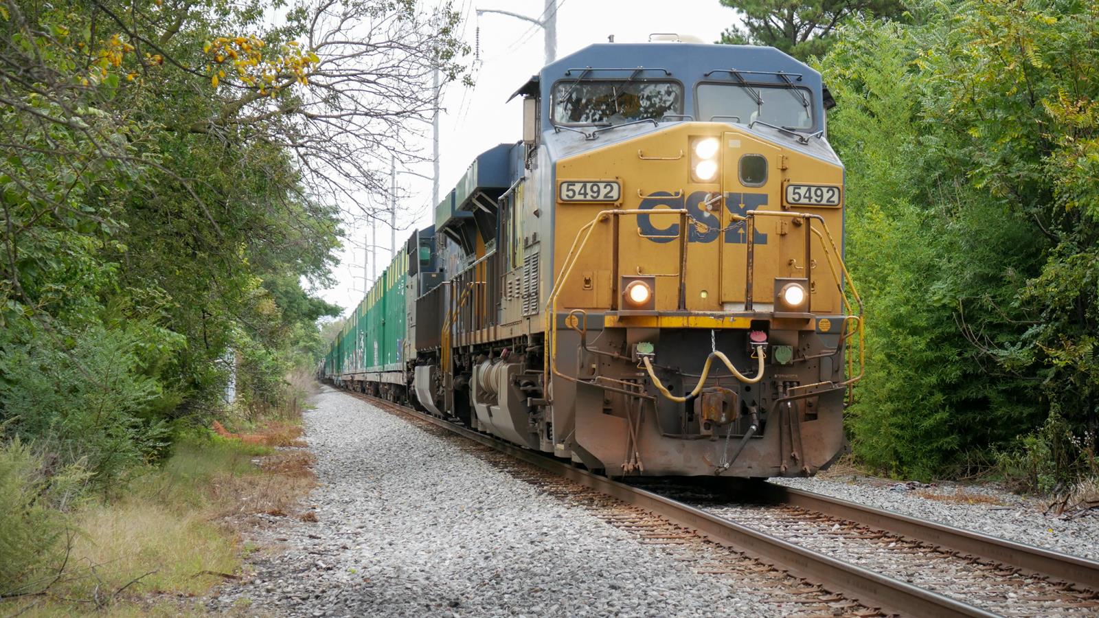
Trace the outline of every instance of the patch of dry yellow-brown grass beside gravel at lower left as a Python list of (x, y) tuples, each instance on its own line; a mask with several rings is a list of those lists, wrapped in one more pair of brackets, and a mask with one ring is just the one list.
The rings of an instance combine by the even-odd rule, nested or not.
[(0, 616), (203, 614), (197, 595), (235, 576), (240, 532), (255, 522), (253, 516), (300, 512), (301, 498), (314, 486), (312, 454), (266, 445), (296, 442), (300, 428), (268, 423), (252, 435), (263, 443), (184, 439), (164, 465), (134, 479), (122, 499), (74, 514), (80, 533), (69, 576), (41, 597), (0, 602)]

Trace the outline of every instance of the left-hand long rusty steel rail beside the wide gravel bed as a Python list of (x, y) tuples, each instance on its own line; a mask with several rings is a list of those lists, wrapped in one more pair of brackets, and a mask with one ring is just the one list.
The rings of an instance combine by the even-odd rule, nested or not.
[(829, 591), (842, 593), (867, 607), (909, 616), (997, 616), (967, 603), (765, 534), (652, 492), (592, 474), (419, 410), (376, 397), (356, 395), (384, 408), (428, 421), (507, 453), (625, 504), (652, 511), (719, 544), (732, 547), (764, 563), (781, 567), (797, 577), (821, 583)]

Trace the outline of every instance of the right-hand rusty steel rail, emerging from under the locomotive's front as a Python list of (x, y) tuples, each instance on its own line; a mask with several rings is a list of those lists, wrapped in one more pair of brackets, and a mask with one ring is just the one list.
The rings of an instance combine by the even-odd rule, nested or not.
[(1099, 562), (1094, 560), (1063, 554), (793, 487), (767, 483), (761, 490), (766, 499), (776, 504), (786, 504), (846, 519), (877, 530), (1021, 569), (1032, 574), (1099, 591)]

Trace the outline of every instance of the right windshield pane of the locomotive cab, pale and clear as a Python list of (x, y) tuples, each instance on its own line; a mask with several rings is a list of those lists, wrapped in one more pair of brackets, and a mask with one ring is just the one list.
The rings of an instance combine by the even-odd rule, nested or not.
[(702, 121), (732, 120), (748, 124), (758, 120), (776, 126), (809, 130), (813, 128), (813, 119), (811, 106), (807, 103), (811, 102), (812, 93), (804, 88), (698, 86), (698, 119)]

